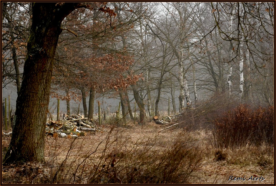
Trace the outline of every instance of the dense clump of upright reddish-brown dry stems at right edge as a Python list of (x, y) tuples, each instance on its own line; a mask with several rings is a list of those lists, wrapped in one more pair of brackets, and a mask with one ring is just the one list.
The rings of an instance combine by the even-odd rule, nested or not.
[(214, 122), (214, 146), (238, 148), (247, 144), (274, 144), (274, 108), (250, 109), (241, 104), (228, 110)]

